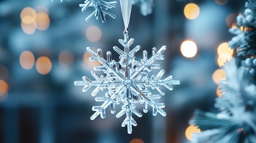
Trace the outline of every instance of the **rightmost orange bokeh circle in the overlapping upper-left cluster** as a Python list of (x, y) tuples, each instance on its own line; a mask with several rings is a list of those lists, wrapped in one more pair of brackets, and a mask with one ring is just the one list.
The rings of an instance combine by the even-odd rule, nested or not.
[(36, 13), (36, 29), (44, 31), (50, 25), (50, 18), (46, 13)]

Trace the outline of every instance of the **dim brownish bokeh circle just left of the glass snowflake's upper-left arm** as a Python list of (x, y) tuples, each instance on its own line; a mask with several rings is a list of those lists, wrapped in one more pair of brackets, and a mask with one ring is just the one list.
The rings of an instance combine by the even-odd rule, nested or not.
[(74, 56), (70, 51), (61, 51), (60, 55), (58, 55), (58, 62), (62, 68), (66, 68), (73, 64)]

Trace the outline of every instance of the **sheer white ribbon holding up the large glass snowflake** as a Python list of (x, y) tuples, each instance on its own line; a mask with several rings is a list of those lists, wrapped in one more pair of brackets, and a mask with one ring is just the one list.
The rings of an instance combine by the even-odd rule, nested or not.
[(120, 0), (120, 5), (124, 20), (124, 28), (127, 31), (132, 11), (132, 0)]

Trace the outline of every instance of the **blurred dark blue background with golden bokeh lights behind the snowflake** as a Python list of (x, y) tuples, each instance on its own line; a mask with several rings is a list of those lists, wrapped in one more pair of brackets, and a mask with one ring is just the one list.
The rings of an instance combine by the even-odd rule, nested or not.
[(143, 117), (133, 116), (138, 125), (132, 134), (121, 127), (124, 117), (108, 108), (105, 119), (91, 121), (92, 106), (102, 102), (91, 96), (93, 87), (82, 92), (73, 84), (84, 75), (94, 80), (90, 71), (99, 63), (89, 61), (87, 46), (112, 51), (118, 61), (112, 47), (121, 48), (124, 36), (119, 1), (108, 10), (116, 18), (107, 15), (103, 24), (94, 17), (85, 22), (94, 9), (81, 13), (83, 3), (0, 0), (0, 143), (191, 143), (191, 132), (200, 132), (188, 123), (194, 109), (217, 111), (217, 83), (225, 78), (220, 67), (235, 55), (228, 30), (245, 0), (154, 0), (147, 16), (132, 7), (129, 36), (135, 38), (131, 48), (141, 46), (137, 61), (143, 50), (150, 57), (151, 48), (166, 45), (165, 60), (156, 63), (166, 70), (163, 79), (181, 81), (156, 100), (165, 103), (166, 117), (136, 105)]

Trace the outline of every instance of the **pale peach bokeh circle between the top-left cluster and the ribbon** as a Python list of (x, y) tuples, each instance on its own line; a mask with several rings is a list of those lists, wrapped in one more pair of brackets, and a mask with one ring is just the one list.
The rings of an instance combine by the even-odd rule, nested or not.
[(85, 35), (90, 42), (97, 42), (101, 39), (101, 29), (97, 26), (89, 26), (85, 31)]

